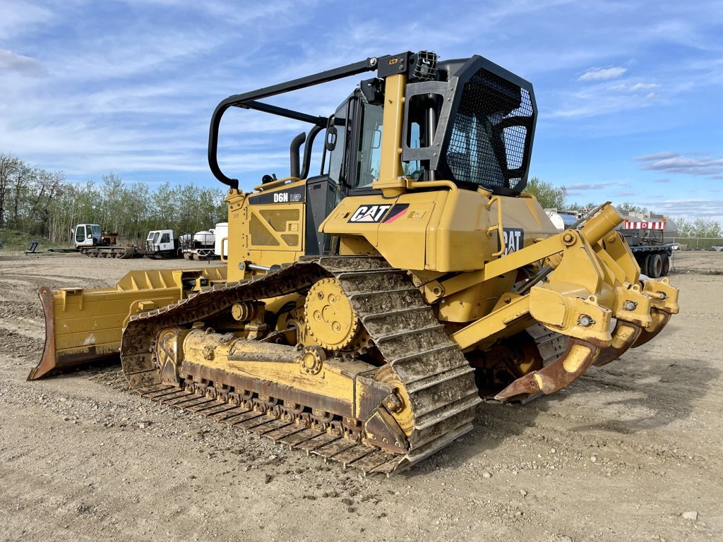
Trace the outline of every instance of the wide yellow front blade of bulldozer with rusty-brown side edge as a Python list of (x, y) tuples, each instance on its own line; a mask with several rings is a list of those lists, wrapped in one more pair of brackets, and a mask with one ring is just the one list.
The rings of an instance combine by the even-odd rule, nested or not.
[(28, 380), (61, 369), (119, 356), (121, 335), (132, 314), (179, 301), (184, 288), (225, 281), (225, 267), (203, 270), (131, 271), (114, 288), (40, 288), (46, 322), (40, 363)]

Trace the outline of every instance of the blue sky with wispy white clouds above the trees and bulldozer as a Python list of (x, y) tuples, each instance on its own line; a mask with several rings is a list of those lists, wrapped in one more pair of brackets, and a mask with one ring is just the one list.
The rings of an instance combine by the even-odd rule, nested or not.
[[(226, 96), (419, 49), (533, 82), (531, 174), (571, 201), (723, 220), (723, 1), (0, 0), (0, 152), (72, 181), (213, 186)], [(277, 103), (326, 115), (359, 79)], [(224, 170), (286, 175), (307, 126), (231, 113)]]

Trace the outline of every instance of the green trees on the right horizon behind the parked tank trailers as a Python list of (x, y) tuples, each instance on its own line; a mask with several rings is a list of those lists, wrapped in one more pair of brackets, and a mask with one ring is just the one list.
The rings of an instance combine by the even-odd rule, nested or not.
[[(539, 177), (532, 177), (525, 189), (525, 192), (533, 194), (537, 198), (537, 201), (544, 209), (558, 209), (558, 210), (583, 210), (583, 209), (594, 209), (598, 203), (588, 203), (581, 205), (577, 202), (568, 202), (568, 189), (565, 186), (555, 186), (552, 183), (543, 181)], [(654, 212), (649, 210), (647, 207), (641, 207), (640, 205), (633, 205), (628, 202), (615, 204), (615, 207), (619, 210), (628, 212)], [(694, 237), (694, 238), (711, 238), (711, 237), (723, 237), (723, 224), (710, 218), (695, 218), (689, 219), (685, 217), (672, 217), (671, 220), (675, 222), (677, 226), (677, 237)]]

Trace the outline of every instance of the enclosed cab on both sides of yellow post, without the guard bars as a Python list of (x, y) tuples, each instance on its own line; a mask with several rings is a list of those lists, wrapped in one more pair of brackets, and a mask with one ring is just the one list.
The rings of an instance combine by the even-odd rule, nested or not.
[[(436, 73), (435, 80), (406, 84), (403, 175), (522, 192), (536, 117), (529, 83), (481, 57), (442, 62)], [(328, 174), (351, 192), (371, 191), (380, 176), (384, 85), (380, 78), (362, 81), (330, 118), (336, 141), (332, 148), (327, 141)]]

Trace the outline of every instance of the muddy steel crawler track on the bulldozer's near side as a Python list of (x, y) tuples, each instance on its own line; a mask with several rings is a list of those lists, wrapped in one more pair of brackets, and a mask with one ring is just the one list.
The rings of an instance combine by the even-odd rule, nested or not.
[[(155, 337), (165, 327), (189, 326), (228, 311), (232, 304), (304, 292), (321, 278), (336, 278), (411, 406), (406, 454), (382, 450), (340, 420), (315, 421), (266, 408), (260, 397), (221, 403), (197, 390), (161, 383), (153, 360)], [(472, 429), (481, 402), (474, 369), (424, 303), (407, 273), (379, 257), (317, 257), (239, 283), (206, 291), (133, 317), (124, 330), (121, 360), (134, 392), (237, 429), (266, 436), (366, 473), (389, 475), (424, 459)], [(214, 385), (223, 385), (214, 382)], [(202, 390), (200, 390), (202, 391)], [(278, 397), (283, 399), (283, 397)], [(330, 422), (330, 423), (326, 423)]]

